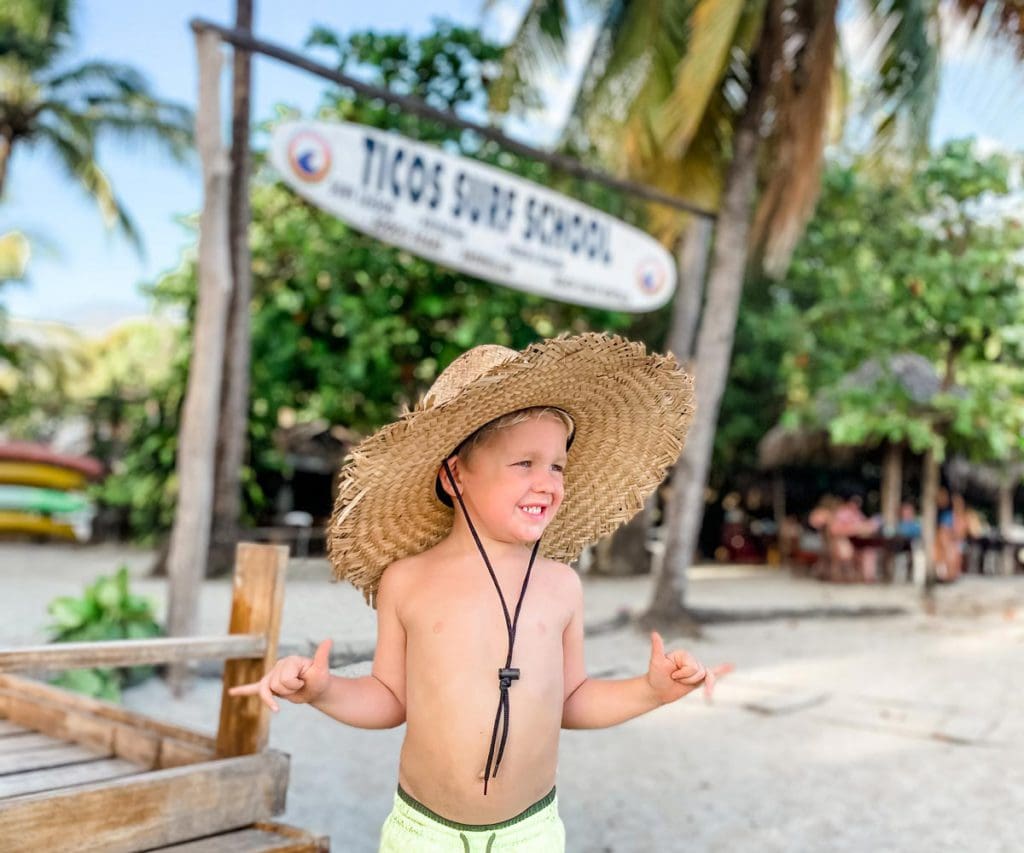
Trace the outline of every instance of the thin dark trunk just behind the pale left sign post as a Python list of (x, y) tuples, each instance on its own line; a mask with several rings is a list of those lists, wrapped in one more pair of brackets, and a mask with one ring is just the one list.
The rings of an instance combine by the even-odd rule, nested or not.
[[(237, 30), (250, 32), (253, 0), (238, 0)], [(231, 111), (231, 304), (227, 312), (224, 373), (220, 390), (217, 472), (213, 493), (213, 529), (207, 574), (223, 574), (234, 560), (242, 514), (242, 463), (249, 428), (250, 302), (252, 262), (249, 254), (249, 115), (252, 60), (234, 48)]]

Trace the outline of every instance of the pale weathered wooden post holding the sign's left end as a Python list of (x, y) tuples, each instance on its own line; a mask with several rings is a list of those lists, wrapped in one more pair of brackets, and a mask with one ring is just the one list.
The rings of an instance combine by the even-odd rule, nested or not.
[[(178, 437), (178, 505), (167, 555), (167, 628), (173, 637), (196, 632), (200, 584), (210, 542), (224, 317), (231, 280), (227, 248), (229, 166), (220, 142), (220, 39), (204, 31), (196, 36), (196, 46), (200, 72), (196, 142), (203, 163), (203, 211), (195, 344)], [(187, 686), (187, 676), (185, 665), (171, 667), (169, 681), (176, 693)]]

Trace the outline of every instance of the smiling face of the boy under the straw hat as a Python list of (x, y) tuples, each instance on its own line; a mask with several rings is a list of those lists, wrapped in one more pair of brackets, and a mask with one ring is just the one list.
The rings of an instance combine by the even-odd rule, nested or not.
[(498, 430), (458, 459), (456, 479), (473, 523), (506, 542), (540, 539), (564, 496), (566, 439), (557, 418), (535, 417)]

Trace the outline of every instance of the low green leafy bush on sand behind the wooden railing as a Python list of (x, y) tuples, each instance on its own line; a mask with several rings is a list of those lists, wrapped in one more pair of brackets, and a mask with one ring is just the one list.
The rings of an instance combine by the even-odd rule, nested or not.
[[(153, 613), (153, 603), (128, 589), (128, 568), (97, 578), (81, 598), (62, 595), (47, 607), (53, 617), (50, 641), (54, 643), (99, 640), (138, 640), (158, 637), (163, 630)], [(110, 701), (119, 701), (121, 688), (138, 684), (154, 674), (153, 667), (104, 667), (69, 670), (53, 683)]]

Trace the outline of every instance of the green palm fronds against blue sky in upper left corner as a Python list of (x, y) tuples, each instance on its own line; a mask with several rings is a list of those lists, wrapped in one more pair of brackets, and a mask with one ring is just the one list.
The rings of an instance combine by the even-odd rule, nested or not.
[(128, 66), (91, 60), (60, 68), (71, 37), (69, 0), (13, 0), (0, 11), (0, 199), (15, 148), (49, 148), (106, 224), (140, 248), (96, 162), (97, 138), (113, 132), (152, 139), (180, 161), (191, 146), (191, 114), (158, 99)]

